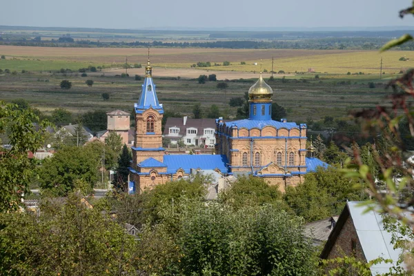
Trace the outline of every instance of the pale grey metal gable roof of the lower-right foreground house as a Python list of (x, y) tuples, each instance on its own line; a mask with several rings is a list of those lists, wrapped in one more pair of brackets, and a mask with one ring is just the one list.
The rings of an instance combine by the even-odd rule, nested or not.
[[(339, 233), (348, 217), (352, 218), (353, 225), (357, 232), (359, 243), (367, 262), (382, 257), (384, 259), (392, 259), (392, 264), (381, 262), (371, 266), (373, 275), (388, 273), (389, 268), (397, 264), (398, 258), (402, 253), (400, 248), (393, 248), (391, 243), (392, 235), (384, 230), (382, 215), (379, 210), (370, 210), (365, 212), (364, 206), (359, 206), (359, 201), (348, 201), (342, 211), (335, 228), (329, 235), (328, 242), (322, 250), (321, 257), (326, 259), (331, 252)], [(378, 209), (378, 208), (377, 208)]]

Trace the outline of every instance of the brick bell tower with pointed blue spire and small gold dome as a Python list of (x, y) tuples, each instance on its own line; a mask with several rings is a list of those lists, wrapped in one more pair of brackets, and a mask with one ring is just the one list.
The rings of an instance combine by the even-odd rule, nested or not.
[(162, 148), (161, 120), (164, 108), (159, 103), (150, 65), (150, 49), (148, 48), (148, 64), (145, 68), (145, 79), (141, 96), (135, 103), (135, 145), (133, 150), (134, 167), (150, 157), (162, 162), (165, 149)]

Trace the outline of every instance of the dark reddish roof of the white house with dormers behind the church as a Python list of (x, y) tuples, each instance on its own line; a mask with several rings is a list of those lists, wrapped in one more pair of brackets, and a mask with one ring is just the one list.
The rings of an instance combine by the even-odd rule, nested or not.
[(184, 126), (184, 118), (172, 118), (168, 117), (166, 121), (166, 126), (164, 128), (164, 135), (169, 135), (170, 130), (169, 128), (172, 127), (179, 128), (179, 133), (177, 134), (177, 137), (182, 137), (186, 135), (186, 129), (187, 128), (197, 128), (197, 134), (203, 135), (204, 128), (213, 128), (215, 130), (216, 124), (215, 119), (192, 119), (187, 118), (186, 125)]

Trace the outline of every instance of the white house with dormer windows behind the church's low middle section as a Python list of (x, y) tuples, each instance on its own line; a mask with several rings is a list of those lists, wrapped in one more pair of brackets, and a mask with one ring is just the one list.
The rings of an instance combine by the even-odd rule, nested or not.
[(215, 119), (192, 119), (168, 117), (164, 128), (164, 137), (170, 139), (171, 144), (182, 140), (186, 146), (203, 146), (214, 148)]

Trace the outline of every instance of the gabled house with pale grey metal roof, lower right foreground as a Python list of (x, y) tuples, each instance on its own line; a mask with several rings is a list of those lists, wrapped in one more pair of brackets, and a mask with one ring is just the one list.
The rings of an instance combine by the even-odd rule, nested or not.
[(373, 275), (388, 273), (397, 264), (402, 253), (394, 248), (391, 233), (384, 230), (383, 217), (379, 210), (365, 212), (359, 201), (348, 201), (339, 215), (335, 227), (321, 253), (322, 259), (355, 256), (364, 262), (382, 257), (393, 262), (380, 262), (371, 266)]

